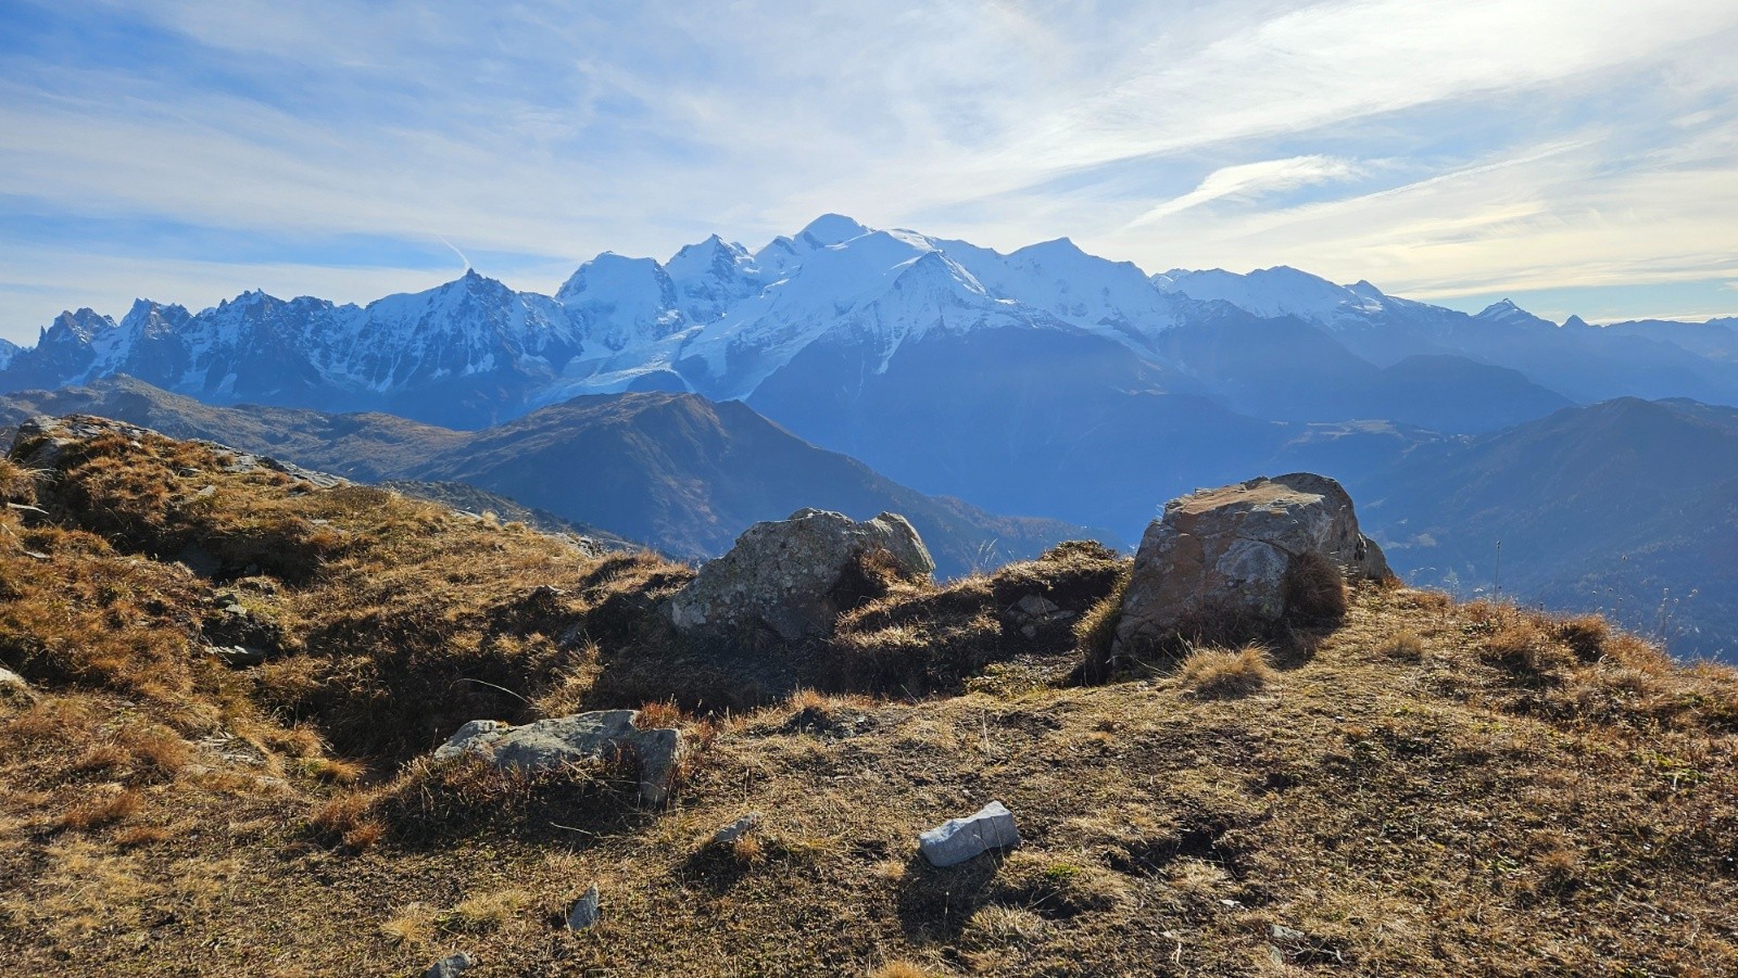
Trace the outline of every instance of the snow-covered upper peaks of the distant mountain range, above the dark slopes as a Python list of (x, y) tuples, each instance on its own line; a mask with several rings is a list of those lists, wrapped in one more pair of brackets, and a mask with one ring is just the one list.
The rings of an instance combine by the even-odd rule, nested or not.
[[(466, 269), (365, 307), (254, 290), (196, 314), (139, 299), (120, 323), (80, 309), (56, 318), (35, 349), (0, 346), (0, 389), (130, 373), (221, 403), (393, 410), (408, 398), (422, 405), (412, 413), (424, 420), (473, 424), (587, 393), (749, 398), (787, 367), (806, 370), (843, 351), (867, 370), (890, 370), (902, 349), (939, 334), (978, 332), (991, 349), (1001, 330), (1079, 332), (1149, 367), (1189, 373), (1180, 351), (1250, 316), (1317, 325), (1376, 368), (1456, 354), (1514, 365), (1585, 400), (1604, 391), (1587, 386), (1583, 394), (1571, 384), (1590, 370), (1576, 365), (1604, 356), (1587, 344), (1623, 339), (1609, 328), (1557, 332), (1507, 301), (1474, 318), (1385, 295), (1370, 281), (1335, 285), (1286, 266), (1147, 276), (1069, 238), (1001, 254), (826, 214), (758, 252), (716, 235), (667, 262), (603, 252), (553, 297)], [(1582, 360), (1564, 361), (1554, 334), (1587, 346), (1576, 353)], [(1707, 389), (1724, 382), (1724, 363), (1738, 365), (1729, 330), (1629, 334), (1684, 347), (1679, 354), (1630, 342), (1625, 354), (1663, 358), (1662, 370), (1705, 377)], [(812, 356), (798, 360), (810, 347)], [(1702, 349), (1710, 353), (1695, 353)], [(1691, 354), (1721, 365), (1682, 360)]]

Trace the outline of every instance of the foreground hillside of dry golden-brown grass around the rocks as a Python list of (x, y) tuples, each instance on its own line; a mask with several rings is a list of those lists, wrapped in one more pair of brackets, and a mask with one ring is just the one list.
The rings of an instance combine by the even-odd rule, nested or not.
[[(43, 446), (0, 466), (21, 973), (1738, 969), (1738, 676), (1597, 618), (1368, 585), (1270, 665), (1081, 686), (1071, 629), (1005, 618), (1114, 592), (1126, 561), (1076, 544), (883, 580), (819, 646), (695, 646), (659, 625), (692, 572), (653, 556), (146, 431)], [(693, 743), (664, 808), (610, 764), (428, 757), (469, 719), (643, 704)], [(918, 855), (991, 799), (1018, 848)], [(601, 922), (567, 931), (591, 884)]]

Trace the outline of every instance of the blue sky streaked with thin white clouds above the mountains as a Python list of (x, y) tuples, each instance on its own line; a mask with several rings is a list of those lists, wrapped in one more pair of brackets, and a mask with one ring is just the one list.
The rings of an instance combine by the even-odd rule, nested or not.
[(0, 0), (0, 337), (824, 212), (1476, 311), (1738, 313), (1738, 3)]

